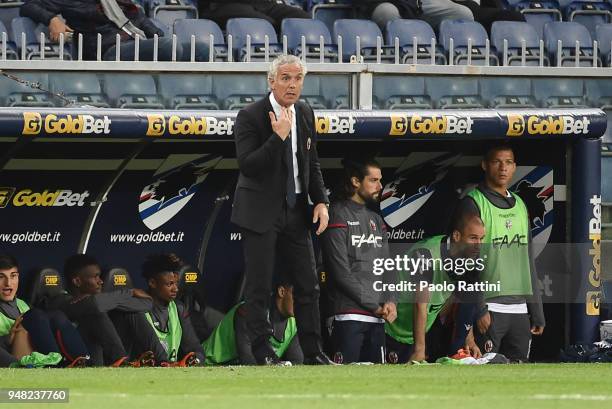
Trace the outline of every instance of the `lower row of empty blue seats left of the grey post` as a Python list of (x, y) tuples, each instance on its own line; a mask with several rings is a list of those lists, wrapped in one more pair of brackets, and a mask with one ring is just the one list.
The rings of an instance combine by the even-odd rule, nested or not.
[[(236, 110), (267, 93), (265, 75), (17, 73), (0, 77), (2, 106)], [(24, 84), (27, 82), (32, 86)], [(42, 90), (41, 90), (42, 88)], [(44, 92), (48, 90), (49, 92)], [(62, 97), (58, 96), (62, 95)], [(302, 98), (314, 108), (349, 108), (348, 77), (310, 75)]]

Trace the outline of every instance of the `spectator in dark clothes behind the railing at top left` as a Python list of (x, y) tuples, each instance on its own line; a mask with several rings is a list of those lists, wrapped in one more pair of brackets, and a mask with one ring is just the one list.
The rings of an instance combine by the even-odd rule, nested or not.
[[(59, 16), (62, 15), (64, 20)], [(136, 36), (140, 38), (139, 59), (153, 60), (154, 40), (157, 34), (159, 61), (172, 60), (172, 41), (163, 38), (160, 30), (136, 7), (131, 0), (27, 0), (21, 6), (20, 15), (36, 23), (49, 26), (52, 41), (58, 41), (60, 33), (73, 33), (76, 45), (78, 34), (83, 34), (83, 59), (97, 58), (97, 34), (102, 35), (102, 59), (115, 59), (116, 36), (121, 38), (122, 60), (134, 60)], [(183, 47), (177, 44), (176, 58), (182, 57)], [(206, 54), (208, 54), (206, 52)], [(207, 56), (202, 56), (207, 58)]]

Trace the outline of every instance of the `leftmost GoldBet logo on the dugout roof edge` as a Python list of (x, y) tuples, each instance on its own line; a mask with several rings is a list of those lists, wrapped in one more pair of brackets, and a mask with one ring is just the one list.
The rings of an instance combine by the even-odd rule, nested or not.
[(95, 118), (92, 115), (55, 115), (44, 118), (38, 112), (23, 113), (24, 135), (38, 135), (43, 130), (47, 134), (109, 134), (111, 120), (104, 115)]

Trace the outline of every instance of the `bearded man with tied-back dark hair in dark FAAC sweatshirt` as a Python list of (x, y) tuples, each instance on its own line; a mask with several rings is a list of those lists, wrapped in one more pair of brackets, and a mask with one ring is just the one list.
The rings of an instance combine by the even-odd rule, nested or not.
[(343, 165), (340, 200), (332, 203), (321, 240), (333, 299), (334, 361), (383, 363), (384, 323), (393, 322), (396, 305), (392, 294), (374, 287), (374, 262), (388, 256), (385, 222), (372, 210), (382, 191), (381, 167), (360, 157), (345, 158)]

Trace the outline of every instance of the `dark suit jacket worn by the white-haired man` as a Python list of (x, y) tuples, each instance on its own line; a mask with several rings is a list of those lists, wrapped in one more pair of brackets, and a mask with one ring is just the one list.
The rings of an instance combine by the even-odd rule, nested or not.
[[(280, 214), (287, 195), (285, 144), (272, 131), (268, 112), (274, 112), (269, 95), (254, 102), (236, 118), (236, 157), (240, 176), (234, 195), (232, 222), (257, 233), (270, 230)], [(302, 193), (314, 204), (328, 203), (317, 154), (314, 113), (305, 103), (295, 104), (297, 125), (297, 160)], [(308, 199), (303, 195), (303, 200)], [(306, 204), (306, 203), (304, 203)], [(302, 206), (307, 209), (307, 206)], [(304, 214), (312, 222), (312, 215)]]

